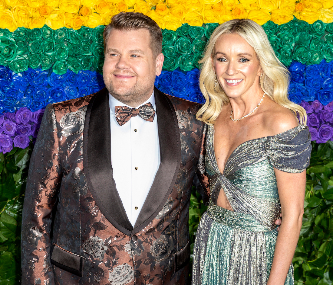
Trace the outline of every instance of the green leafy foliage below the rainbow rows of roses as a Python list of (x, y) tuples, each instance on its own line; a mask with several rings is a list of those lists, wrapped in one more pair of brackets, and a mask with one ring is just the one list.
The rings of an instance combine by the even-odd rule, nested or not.
[[(293, 259), (295, 284), (332, 285), (333, 281), (333, 142), (313, 142), (307, 169), (305, 212)], [(32, 144), (0, 153), (0, 285), (19, 284), (20, 232), (25, 183)], [(190, 242), (193, 248), (199, 219), (206, 206), (193, 187)]]

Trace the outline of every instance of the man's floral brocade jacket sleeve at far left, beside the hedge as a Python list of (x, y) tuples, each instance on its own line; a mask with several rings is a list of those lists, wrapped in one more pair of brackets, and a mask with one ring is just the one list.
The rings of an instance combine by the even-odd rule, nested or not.
[(50, 231), (61, 179), (57, 122), (49, 104), (30, 158), (22, 212), (22, 284), (54, 284)]

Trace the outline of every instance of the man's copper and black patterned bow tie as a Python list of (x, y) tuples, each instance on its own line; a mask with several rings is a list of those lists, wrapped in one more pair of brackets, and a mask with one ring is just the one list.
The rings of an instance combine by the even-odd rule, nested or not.
[(131, 109), (126, 106), (115, 106), (115, 116), (120, 126), (123, 126), (126, 122), (128, 122), (132, 116), (138, 115), (146, 121), (153, 122), (155, 117), (153, 105), (148, 102), (147, 104), (140, 106), (138, 109)]

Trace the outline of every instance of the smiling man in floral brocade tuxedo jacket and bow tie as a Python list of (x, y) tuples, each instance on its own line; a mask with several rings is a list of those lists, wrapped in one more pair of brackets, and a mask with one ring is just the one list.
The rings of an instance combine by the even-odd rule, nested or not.
[(154, 88), (164, 57), (151, 18), (114, 16), (104, 47), (107, 89), (45, 110), (23, 208), (22, 283), (186, 284), (198, 106)]

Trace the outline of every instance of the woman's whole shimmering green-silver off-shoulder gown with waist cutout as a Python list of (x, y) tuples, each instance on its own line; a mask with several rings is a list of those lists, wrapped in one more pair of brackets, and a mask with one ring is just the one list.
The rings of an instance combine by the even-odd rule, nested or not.
[[(208, 128), (205, 166), (210, 200), (196, 233), (192, 285), (267, 283), (281, 212), (274, 167), (299, 173), (309, 165), (311, 135), (297, 127), (239, 145), (220, 173)], [(223, 189), (234, 211), (216, 206)], [(222, 191), (223, 191), (222, 190)], [(290, 189), (292, 191), (292, 189)], [(290, 265), (285, 284), (294, 284)]]

